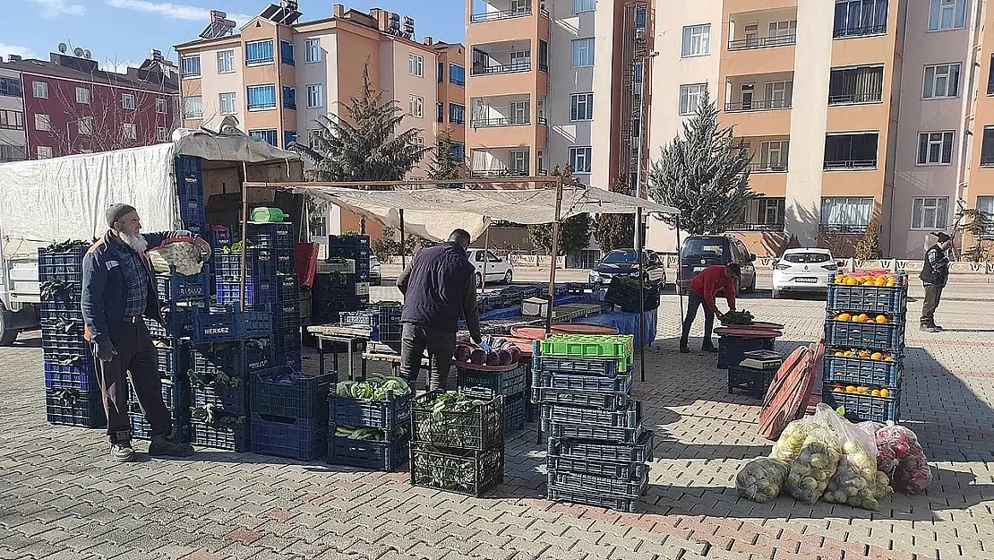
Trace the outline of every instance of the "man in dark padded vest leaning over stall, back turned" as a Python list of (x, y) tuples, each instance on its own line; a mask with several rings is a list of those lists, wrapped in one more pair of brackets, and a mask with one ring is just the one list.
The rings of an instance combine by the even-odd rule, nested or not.
[(459, 318), (466, 319), (473, 341), (478, 344), (482, 339), (476, 308), (476, 269), (466, 258), (469, 243), (468, 232), (455, 230), (447, 243), (418, 251), (397, 279), (397, 287), (404, 294), (401, 375), (410, 383), (417, 380), (427, 348), (431, 391), (447, 386)]

